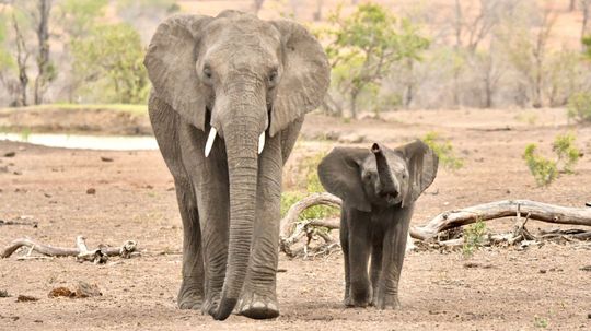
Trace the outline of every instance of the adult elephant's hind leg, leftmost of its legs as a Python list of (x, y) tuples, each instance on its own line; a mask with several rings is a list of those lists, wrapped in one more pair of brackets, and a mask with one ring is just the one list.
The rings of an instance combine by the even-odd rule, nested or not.
[(181, 309), (201, 309), (204, 303), (204, 257), (199, 213), (193, 186), (188, 180), (175, 180), (176, 198), (183, 220), (183, 283), (177, 304)]

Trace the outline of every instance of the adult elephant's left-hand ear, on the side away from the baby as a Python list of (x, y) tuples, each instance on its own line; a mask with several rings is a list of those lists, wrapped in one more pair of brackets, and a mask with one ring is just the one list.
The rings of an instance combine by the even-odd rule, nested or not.
[(157, 96), (200, 130), (205, 129), (207, 88), (195, 66), (200, 32), (211, 20), (200, 15), (166, 19), (158, 26), (143, 60)]

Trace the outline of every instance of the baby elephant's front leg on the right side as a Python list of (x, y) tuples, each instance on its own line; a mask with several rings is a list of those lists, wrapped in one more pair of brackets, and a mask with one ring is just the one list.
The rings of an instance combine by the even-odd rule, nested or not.
[(408, 225), (413, 214), (412, 208), (401, 210), (396, 220), (384, 234), (382, 251), (382, 273), (374, 293), (374, 305), (378, 309), (399, 309), (398, 282), (406, 252)]

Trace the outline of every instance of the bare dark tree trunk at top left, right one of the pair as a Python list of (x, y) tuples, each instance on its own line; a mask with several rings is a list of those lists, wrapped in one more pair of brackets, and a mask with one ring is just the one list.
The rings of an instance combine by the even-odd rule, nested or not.
[(37, 55), (37, 78), (35, 79), (35, 105), (43, 102), (43, 94), (49, 81), (49, 12), (51, 0), (38, 0), (39, 21), (37, 26), (37, 40), (39, 51)]

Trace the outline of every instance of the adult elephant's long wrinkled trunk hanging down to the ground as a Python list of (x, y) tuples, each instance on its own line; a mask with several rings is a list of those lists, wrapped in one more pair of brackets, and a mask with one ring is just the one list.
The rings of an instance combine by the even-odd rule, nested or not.
[(225, 279), (216, 311), (217, 320), (227, 319), (242, 292), (248, 269), (256, 210), (258, 144), (266, 120), (265, 105), (232, 103), (233, 118), (222, 125), (230, 182), (230, 235)]

